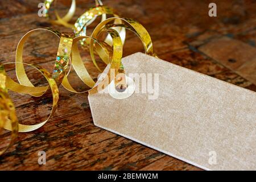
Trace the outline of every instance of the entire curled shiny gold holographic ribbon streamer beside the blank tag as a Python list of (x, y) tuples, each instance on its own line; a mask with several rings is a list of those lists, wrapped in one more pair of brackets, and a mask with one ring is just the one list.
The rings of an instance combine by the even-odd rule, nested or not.
[[(46, 13), (48, 13), (52, 2), (53, 0), (46, 0)], [(137, 21), (133, 19), (120, 18), (113, 13), (113, 10), (102, 6), (101, 1), (96, 1), (96, 7), (82, 14), (80, 18), (77, 19), (75, 26), (71, 26), (71, 24), (68, 22), (71, 20), (73, 14), (75, 13), (75, 6), (75, 0), (73, 0), (71, 9), (69, 9), (68, 14), (63, 18), (60, 18), (55, 11), (57, 20), (53, 21), (53, 23), (74, 28), (75, 34), (72, 32), (60, 33), (53, 30), (52, 28), (38, 28), (27, 32), (27, 34), (22, 37), (18, 43), (15, 57), (16, 76), (18, 78), (19, 84), (11, 80), (10, 77), (6, 76), (4, 67), (2, 64), (0, 64), (0, 129), (7, 129), (12, 131), (11, 142), (9, 146), (14, 143), (18, 132), (34, 131), (39, 129), (39, 127), (42, 127), (49, 120), (57, 107), (57, 102), (59, 100), (58, 86), (60, 84), (62, 84), (64, 88), (70, 92), (89, 92), (90, 94), (94, 94), (99, 92), (101, 89), (105, 89), (105, 87), (108, 86), (113, 79), (115, 79), (115, 82), (117, 82), (119, 79), (117, 78), (118, 73), (125, 72), (121, 64), (121, 59), (123, 43), (125, 42), (126, 29), (133, 31), (141, 39), (146, 54), (156, 56), (153, 52), (150, 35), (148, 34), (147, 30)], [(106, 15), (108, 14), (113, 15), (114, 17), (106, 19)], [(94, 19), (100, 15), (102, 16), (101, 23), (97, 25), (91, 36), (87, 36), (87, 26), (89, 26), (89, 24), (92, 23)], [(49, 14), (47, 14), (47, 16), (49, 16)], [(24, 43), (26, 42), (27, 38), (35, 31), (48, 31), (60, 38), (59, 48), (52, 74), (48, 73), (45, 69), (39, 67), (38, 65), (23, 63), (22, 57)], [(102, 32), (108, 33), (108, 36), (104, 41), (98, 39)], [(108, 69), (106, 69), (105, 77), (101, 77), (101, 80), (94, 82), (93, 78), (90, 76), (89, 72), (84, 66), (84, 63), (82, 62), (77, 43), (81, 43), (82, 46), (89, 46), (88, 51), (90, 52), (92, 61), (98, 70), (101, 71), (94, 57), (95, 52), (98, 54), (98, 56), (100, 56), (101, 60), (108, 67)], [(82, 82), (89, 86), (90, 89), (77, 92), (71, 86), (68, 81), (68, 74), (71, 67), (69, 71), (67, 70), (69, 59), (71, 60), (71, 67), (74, 68), (77, 76), (79, 76)], [(38, 71), (42, 73), (44, 77), (46, 77), (49, 86), (34, 86), (26, 75), (24, 64), (38, 69)], [(8, 95), (7, 90), (10, 89), (20, 94), (30, 94), (34, 97), (40, 97), (47, 91), (48, 88), (51, 88), (52, 91), (53, 106), (51, 113), (49, 114), (49, 117), (46, 119), (46, 121), (36, 125), (22, 125), (18, 123), (18, 119), (15, 114), (15, 107)], [(9, 146), (0, 151), (0, 155), (3, 154), (3, 152), (5, 152)]]

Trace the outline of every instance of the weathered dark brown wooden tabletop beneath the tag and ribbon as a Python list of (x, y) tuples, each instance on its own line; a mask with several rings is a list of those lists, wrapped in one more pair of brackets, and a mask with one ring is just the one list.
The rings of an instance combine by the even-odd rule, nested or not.
[[(0, 61), (15, 60), (15, 48), (29, 30), (53, 27), (37, 15), (40, 0), (0, 1)], [(63, 1), (68, 5), (68, 1)], [(211, 1), (105, 0), (117, 14), (134, 18), (147, 28), (155, 52), (171, 63), (256, 91), (256, 1), (215, 1), (217, 17), (208, 16)], [(59, 2), (60, 12), (67, 11)], [(77, 1), (76, 17), (92, 7), (93, 1)], [(92, 26), (93, 27), (93, 26)], [(39, 36), (40, 34), (40, 36)], [(24, 48), (26, 63), (51, 71), (59, 40), (39, 32)], [(124, 56), (143, 51), (139, 39), (127, 35)], [(88, 58), (88, 54), (82, 53)], [(92, 73), (96, 69), (85, 62)], [(9, 75), (14, 77), (13, 67)], [(44, 81), (28, 70), (36, 85)], [(83, 89), (75, 75), (72, 84)], [(43, 121), (51, 109), (51, 94), (43, 98), (11, 92), (22, 123)], [(0, 136), (3, 147), (9, 133)], [(38, 152), (46, 151), (46, 165), (38, 164)], [(73, 94), (60, 87), (59, 107), (49, 122), (31, 133), (20, 133), (17, 142), (0, 157), (1, 170), (200, 170), (161, 152), (144, 147), (93, 125), (87, 94)]]

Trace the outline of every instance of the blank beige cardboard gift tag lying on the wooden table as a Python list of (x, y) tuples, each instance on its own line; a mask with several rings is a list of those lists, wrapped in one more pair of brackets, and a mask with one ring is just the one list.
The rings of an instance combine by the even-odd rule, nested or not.
[(256, 169), (255, 92), (143, 53), (122, 63), (135, 92), (89, 94), (96, 126), (203, 169)]

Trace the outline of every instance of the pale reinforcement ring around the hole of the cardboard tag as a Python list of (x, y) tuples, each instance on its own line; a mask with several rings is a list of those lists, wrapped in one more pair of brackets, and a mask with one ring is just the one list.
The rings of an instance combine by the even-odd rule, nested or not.
[(115, 99), (121, 100), (121, 99), (130, 97), (134, 93), (135, 88), (136, 88), (135, 82), (133, 81), (132, 78), (130, 78), (128, 76), (125, 76), (125, 77), (126, 77), (126, 83), (127, 83), (127, 88), (125, 89), (125, 91), (118, 92), (115, 89), (115, 82), (113, 80), (112, 82), (110, 82), (110, 84), (108, 86), (110, 96), (112, 96)]

